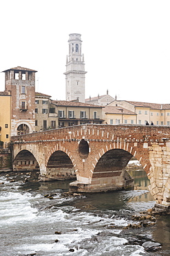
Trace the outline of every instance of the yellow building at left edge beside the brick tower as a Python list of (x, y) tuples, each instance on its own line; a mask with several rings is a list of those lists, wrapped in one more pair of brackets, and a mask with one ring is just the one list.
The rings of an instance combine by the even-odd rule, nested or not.
[(0, 147), (8, 147), (10, 142), (11, 95), (0, 92)]

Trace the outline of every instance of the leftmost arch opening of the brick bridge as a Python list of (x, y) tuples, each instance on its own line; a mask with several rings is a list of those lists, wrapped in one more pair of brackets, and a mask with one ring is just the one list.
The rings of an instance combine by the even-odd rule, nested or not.
[(12, 166), (14, 171), (40, 170), (39, 163), (36, 161), (34, 154), (27, 149), (21, 150), (17, 156), (15, 156)]

